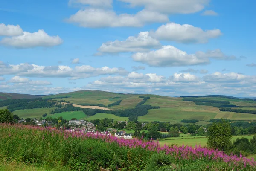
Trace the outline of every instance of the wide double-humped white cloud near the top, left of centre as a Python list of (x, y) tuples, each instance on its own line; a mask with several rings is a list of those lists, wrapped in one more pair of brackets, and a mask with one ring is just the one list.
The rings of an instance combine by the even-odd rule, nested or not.
[(146, 23), (169, 21), (165, 14), (142, 10), (137, 14), (119, 14), (112, 10), (88, 8), (70, 16), (67, 22), (78, 23), (81, 27), (142, 27)]

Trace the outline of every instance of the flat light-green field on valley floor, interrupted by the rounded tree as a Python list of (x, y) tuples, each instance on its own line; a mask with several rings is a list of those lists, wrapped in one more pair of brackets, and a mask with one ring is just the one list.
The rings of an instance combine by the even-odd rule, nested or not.
[[(245, 136), (233, 136), (232, 137), (232, 141), (237, 139), (237, 138), (247, 138), (247, 139), (251, 139), (253, 138), (253, 135), (245, 135)], [(166, 138), (166, 139), (160, 139), (159, 143), (161, 145), (188, 145), (188, 146), (193, 146), (195, 147), (195, 145), (201, 145), (201, 146), (206, 146), (207, 145), (207, 137), (201, 137), (201, 136), (193, 136), (193, 137), (178, 137), (178, 138)]]

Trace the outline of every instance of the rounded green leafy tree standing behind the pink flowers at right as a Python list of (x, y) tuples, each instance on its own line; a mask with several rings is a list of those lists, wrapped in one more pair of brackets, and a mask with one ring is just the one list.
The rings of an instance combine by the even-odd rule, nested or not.
[(226, 151), (230, 145), (232, 134), (230, 123), (222, 120), (222, 122), (213, 123), (209, 126), (207, 145), (221, 151)]

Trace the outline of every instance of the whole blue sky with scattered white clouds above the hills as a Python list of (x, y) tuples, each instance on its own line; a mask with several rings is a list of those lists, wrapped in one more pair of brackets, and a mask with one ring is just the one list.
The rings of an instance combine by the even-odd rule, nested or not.
[(253, 0), (8, 0), (0, 92), (256, 96)]

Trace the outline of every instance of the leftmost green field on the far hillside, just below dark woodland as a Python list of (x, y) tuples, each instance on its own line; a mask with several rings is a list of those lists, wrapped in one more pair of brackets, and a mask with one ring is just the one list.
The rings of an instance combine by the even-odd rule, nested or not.
[(42, 117), (42, 115), (45, 113), (47, 113), (47, 116), (48, 116), (49, 112), (51, 112), (54, 109), (55, 107), (39, 108), (39, 109), (23, 109), (23, 110), (15, 110), (12, 113), (14, 115), (19, 116), (20, 118), (38, 118), (38, 117)]

